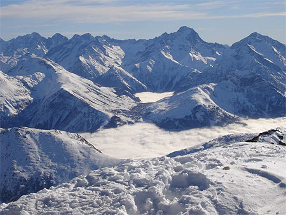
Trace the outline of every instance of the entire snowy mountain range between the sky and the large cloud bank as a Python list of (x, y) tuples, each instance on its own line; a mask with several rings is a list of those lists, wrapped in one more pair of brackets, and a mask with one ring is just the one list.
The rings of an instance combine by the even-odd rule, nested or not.
[[(285, 46), (259, 33), (224, 46), (180, 27), (149, 40), (36, 32), (1, 39), (1, 127), (167, 130), (286, 114)], [(141, 103), (137, 92), (170, 92)]]

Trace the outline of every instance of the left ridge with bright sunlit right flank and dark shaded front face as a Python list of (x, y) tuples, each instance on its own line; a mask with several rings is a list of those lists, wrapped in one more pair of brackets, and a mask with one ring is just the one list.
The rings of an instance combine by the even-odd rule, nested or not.
[(45, 77), (30, 89), (33, 102), (19, 115), (1, 119), (2, 127), (94, 131), (106, 125), (116, 110), (135, 105), (134, 96), (97, 85), (33, 54), (26, 54), (8, 74), (20, 78), (35, 72)]

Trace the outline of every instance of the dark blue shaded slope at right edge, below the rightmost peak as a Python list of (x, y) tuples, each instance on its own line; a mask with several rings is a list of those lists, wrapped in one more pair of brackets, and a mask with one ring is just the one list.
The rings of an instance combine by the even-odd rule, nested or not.
[(239, 117), (275, 118), (286, 115), (285, 89), (258, 74), (233, 75), (209, 90), (222, 109)]

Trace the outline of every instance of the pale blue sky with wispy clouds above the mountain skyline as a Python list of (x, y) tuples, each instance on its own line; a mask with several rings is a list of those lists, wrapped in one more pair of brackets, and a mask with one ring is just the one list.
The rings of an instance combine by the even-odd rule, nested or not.
[(285, 0), (0, 0), (1, 38), (37, 31), (106, 34), (116, 39), (154, 38), (180, 26), (207, 42), (233, 44), (252, 32), (286, 43)]

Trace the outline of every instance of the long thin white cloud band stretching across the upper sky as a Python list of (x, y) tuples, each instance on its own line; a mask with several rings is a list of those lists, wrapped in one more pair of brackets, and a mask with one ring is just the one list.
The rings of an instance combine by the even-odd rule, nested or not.
[[(239, 17), (285, 16), (285, 12), (211, 15), (195, 11), (194, 6), (217, 7), (231, 2), (213, 1), (197, 5), (112, 5), (109, 1), (27, 1), (20, 5), (1, 8), (2, 18), (38, 19), (42, 21), (72, 21), (75, 23), (102, 23), (143, 20), (226, 19)], [(90, 5), (87, 5), (90, 4)]]

